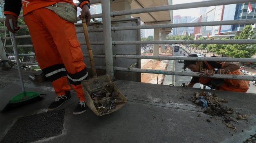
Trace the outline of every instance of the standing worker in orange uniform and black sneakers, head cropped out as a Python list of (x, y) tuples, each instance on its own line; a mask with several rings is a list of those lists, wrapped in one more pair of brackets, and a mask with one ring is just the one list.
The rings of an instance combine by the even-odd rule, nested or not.
[[(91, 19), (90, 1), (79, 2), (78, 6), (82, 9), (79, 17), (85, 18), (88, 25)], [(36, 59), (57, 95), (48, 110), (54, 110), (71, 99), (69, 80), (79, 98), (73, 114), (84, 113), (88, 107), (81, 81), (88, 78), (88, 72), (74, 26), (77, 20), (76, 5), (73, 0), (5, 0), (5, 25), (11, 32), (20, 29), (17, 18), (22, 7)], [(14, 30), (10, 27), (9, 19), (13, 20)]]

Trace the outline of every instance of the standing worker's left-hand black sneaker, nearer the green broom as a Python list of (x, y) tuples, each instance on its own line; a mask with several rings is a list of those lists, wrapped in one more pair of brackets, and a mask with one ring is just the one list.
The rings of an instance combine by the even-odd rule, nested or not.
[(62, 104), (67, 102), (69, 99), (71, 99), (70, 91), (66, 91), (65, 95), (58, 96), (51, 105), (49, 105), (48, 110), (52, 111), (58, 107), (60, 107)]

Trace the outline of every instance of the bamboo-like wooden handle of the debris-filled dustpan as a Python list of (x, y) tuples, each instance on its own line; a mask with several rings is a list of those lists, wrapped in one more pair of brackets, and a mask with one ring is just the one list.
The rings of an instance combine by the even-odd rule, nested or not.
[(87, 51), (88, 51), (88, 54), (89, 54), (89, 59), (90, 59), (90, 63), (91, 63), (93, 77), (97, 77), (95, 64), (94, 64), (94, 59), (93, 59), (93, 51), (92, 51), (92, 48), (91, 48), (91, 43), (90, 43), (88, 31), (87, 31), (87, 25), (86, 25), (85, 18), (82, 20), (82, 25), (83, 25), (83, 29), (84, 29), (84, 37), (85, 37), (85, 42), (86, 42), (86, 46), (87, 46)]

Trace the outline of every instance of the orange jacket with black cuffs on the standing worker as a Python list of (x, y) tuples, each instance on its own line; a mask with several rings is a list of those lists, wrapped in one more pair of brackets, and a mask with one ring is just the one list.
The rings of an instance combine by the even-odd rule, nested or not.
[[(23, 15), (34, 11), (36, 9), (53, 5), (57, 2), (67, 2), (69, 4), (74, 4), (73, 0), (5, 0), (4, 5), (4, 15), (12, 14), (18, 17), (20, 14), (20, 9), (23, 7)], [(89, 3), (89, 0), (79, 0), (79, 5), (84, 5)], [(22, 4), (22, 5), (21, 5)], [(76, 5), (75, 5), (76, 6)]]

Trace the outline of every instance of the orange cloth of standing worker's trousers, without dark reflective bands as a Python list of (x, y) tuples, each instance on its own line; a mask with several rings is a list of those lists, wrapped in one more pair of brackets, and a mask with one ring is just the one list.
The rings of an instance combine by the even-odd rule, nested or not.
[[(53, 11), (40, 8), (25, 14), (24, 21), (29, 28), (36, 60), (41, 69), (64, 64), (67, 73), (75, 74), (85, 69), (84, 57), (76, 37), (74, 23), (63, 20)], [(71, 90), (67, 75), (51, 81), (56, 95)], [(81, 83), (71, 86), (80, 101), (84, 101)]]

